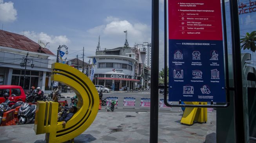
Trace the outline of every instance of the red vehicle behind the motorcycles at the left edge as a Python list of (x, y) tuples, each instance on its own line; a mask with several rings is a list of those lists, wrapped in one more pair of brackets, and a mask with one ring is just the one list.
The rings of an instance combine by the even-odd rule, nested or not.
[(21, 86), (0, 85), (0, 104), (5, 101), (3, 95), (9, 93), (9, 100), (17, 102), (18, 99), (26, 100), (26, 95)]

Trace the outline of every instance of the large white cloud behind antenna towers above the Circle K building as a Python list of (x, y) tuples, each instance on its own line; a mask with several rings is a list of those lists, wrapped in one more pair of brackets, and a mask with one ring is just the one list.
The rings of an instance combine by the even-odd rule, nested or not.
[(105, 21), (108, 21), (106, 25), (100, 25), (87, 30), (93, 38), (100, 35), (102, 48), (123, 46), (125, 41), (125, 33), (123, 31), (125, 30), (128, 32), (127, 39), (131, 47), (133, 47), (134, 43), (141, 44), (143, 42), (151, 42), (151, 27), (149, 25), (144, 23), (131, 23), (127, 20), (119, 20), (112, 16), (108, 16)]

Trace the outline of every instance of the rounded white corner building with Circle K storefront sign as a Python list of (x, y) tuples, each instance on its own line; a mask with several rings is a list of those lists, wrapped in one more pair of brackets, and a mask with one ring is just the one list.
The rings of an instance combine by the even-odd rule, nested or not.
[[(89, 58), (96, 59), (94, 84), (103, 85), (112, 90), (127, 90), (135, 87), (134, 79), (135, 59), (133, 48), (114, 48), (111, 50), (97, 51), (95, 56)], [(95, 80), (96, 79), (96, 80)]]

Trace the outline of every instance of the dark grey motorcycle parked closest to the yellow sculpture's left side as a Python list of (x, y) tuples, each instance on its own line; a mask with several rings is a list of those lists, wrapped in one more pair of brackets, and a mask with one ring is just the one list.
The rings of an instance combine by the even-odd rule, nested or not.
[[(46, 97), (46, 96), (45, 96)], [(20, 106), (20, 110), (18, 113), (19, 125), (30, 123), (34, 120), (36, 113), (36, 105), (29, 105), (24, 102)]]

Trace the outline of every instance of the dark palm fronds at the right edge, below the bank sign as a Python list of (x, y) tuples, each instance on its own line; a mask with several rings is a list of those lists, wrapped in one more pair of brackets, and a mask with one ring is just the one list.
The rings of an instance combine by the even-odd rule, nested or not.
[(247, 32), (245, 36), (240, 39), (241, 49), (251, 49), (252, 52), (256, 50), (256, 31), (252, 31), (250, 34)]

